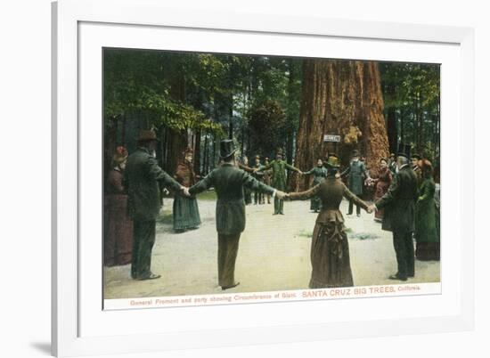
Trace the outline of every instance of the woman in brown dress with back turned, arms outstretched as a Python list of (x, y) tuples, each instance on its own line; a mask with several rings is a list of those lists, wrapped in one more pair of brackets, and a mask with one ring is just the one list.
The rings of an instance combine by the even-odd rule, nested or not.
[(310, 289), (354, 286), (347, 233), (339, 205), (342, 198), (346, 198), (369, 213), (372, 212), (362, 199), (357, 198), (336, 178), (339, 159), (331, 156), (327, 167), (327, 178), (322, 183), (315, 185), (309, 191), (294, 192), (287, 196), (290, 200), (305, 200), (317, 196), (322, 201), (322, 209), (316, 218), (311, 244)]

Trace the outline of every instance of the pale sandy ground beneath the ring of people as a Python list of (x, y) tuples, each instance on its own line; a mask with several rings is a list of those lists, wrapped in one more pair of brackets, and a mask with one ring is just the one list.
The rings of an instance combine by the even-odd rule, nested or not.
[[(151, 270), (159, 280), (133, 281), (130, 265), (104, 267), (104, 297), (160, 297), (222, 292), (217, 286), (216, 202), (212, 194), (198, 197), (200, 229), (175, 233), (172, 199), (166, 199), (157, 223)], [(310, 244), (316, 215), (310, 202), (285, 202), (284, 216), (273, 216), (273, 204), (249, 205), (247, 227), (241, 234), (235, 280), (241, 285), (228, 292), (307, 289), (310, 279)], [(351, 267), (355, 286), (401, 283), (388, 280), (396, 273), (396, 257), (390, 232), (381, 231), (373, 215), (346, 216)], [(439, 262), (415, 262), (415, 277), (407, 283), (437, 282)]]

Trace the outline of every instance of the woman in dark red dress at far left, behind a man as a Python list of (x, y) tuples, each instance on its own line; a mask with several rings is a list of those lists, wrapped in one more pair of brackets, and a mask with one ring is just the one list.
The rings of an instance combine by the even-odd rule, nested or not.
[(107, 176), (104, 198), (104, 264), (131, 263), (133, 251), (133, 221), (127, 213), (127, 190), (124, 184), (127, 151), (118, 147)]

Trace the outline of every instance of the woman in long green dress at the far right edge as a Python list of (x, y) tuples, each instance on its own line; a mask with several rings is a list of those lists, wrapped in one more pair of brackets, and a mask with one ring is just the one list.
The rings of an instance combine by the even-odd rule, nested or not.
[(422, 183), (417, 200), (417, 248), (418, 260), (439, 260), (440, 240), (437, 233), (436, 183), (432, 177), (432, 164), (427, 159), (419, 161)]

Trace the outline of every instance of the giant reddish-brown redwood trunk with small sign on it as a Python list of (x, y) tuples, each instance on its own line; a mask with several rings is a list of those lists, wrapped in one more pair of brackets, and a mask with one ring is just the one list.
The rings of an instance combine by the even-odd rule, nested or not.
[[(346, 167), (356, 149), (375, 173), (379, 159), (388, 155), (378, 63), (306, 59), (302, 91), (296, 167), (314, 167), (327, 151), (337, 151)], [(341, 141), (323, 142), (323, 134), (340, 135)], [(308, 177), (295, 175), (291, 186), (302, 191), (308, 183)]]

